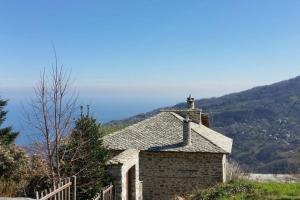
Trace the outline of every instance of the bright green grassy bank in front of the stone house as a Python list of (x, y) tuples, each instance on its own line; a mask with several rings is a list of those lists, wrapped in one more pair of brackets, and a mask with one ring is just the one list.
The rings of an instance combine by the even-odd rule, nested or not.
[(233, 181), (199, 190), (190, 200), (300, 199), (300, 183)]

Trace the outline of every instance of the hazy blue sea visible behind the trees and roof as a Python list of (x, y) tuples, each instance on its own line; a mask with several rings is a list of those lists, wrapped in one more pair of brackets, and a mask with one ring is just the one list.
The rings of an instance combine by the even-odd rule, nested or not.
[[(30, 132), (30, 130), (23, 116), (23, 110), (26, 109), (26, 101), (19, 98), (4, 98), (10, 99), (7, 106), (8, 115), (5, 121), (5, 125), (12, 125), (16, 131), (19, 131), (20, 135), (18, 136), (16, 142), (19, 145), (26, 146), (30, 142), (30, 140), (28, 139), (28, 132)], [(172, 103), (173, 102), (170, 102), (169, 104)], [(142, 100), (137, 101), (134, 99), (132, 99), (131, 101), (120, 100), (119, 102), (117, 100), (114, 100), (113, 102), (109, 102), (108, 100), (99, 100), (98, 102), (96, 102), (96, 100), (81, 100), (79, 101), (78, 105), (90, 105), (91, 114), (99, 122), (107, 123), (112, 120), (122, 120), (140, 113), (145, 113), (158, 107), (166, 106), (168, 105), (168, 103), (163, 101), (153, 101), (152, 103), (149, 103), (143, 102)]]

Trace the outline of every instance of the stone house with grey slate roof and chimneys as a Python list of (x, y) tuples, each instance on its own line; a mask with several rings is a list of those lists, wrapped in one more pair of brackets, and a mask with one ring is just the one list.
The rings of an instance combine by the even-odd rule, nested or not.
[[(208, 115), (187, 108), (162, 110), (106, 136), (116, 199), (168, 200), (226, 181), (232, 139), (209, 128)], [(114, 156), (114, 157), (113, 157)]]

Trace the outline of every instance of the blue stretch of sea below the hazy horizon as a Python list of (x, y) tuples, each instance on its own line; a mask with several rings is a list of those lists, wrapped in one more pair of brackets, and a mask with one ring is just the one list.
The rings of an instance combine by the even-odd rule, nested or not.
[[(1, 95), (1, 98), (4, 98)], [(15, 131), (19, 132), (16, 143), (21, 146), (26, 146), (31, 143), (32, 137), (36, 131), (27, 123), (26, 114), (31, 112), (29, 104), (30, 99), (26, 96), (6, 95), (9, 99), (5, 110), (8, 111), (6, 120), (2, 127), (12, 126)], [(156, 108), (170, 106), (178, 103), (174, 99), (162, 98), (137, 98), (136, 96), (130, 97), (93, 97), (93, 98), (80, 98), (77, 101), (78, 112), (80, 113), (80, 105), (86, 107), (89, 105), (90, 114), (97, 119), (99, 123), (107, 123), (112, 120), (122, 120), (137, 114), (152, 111)], [(76, 116), (75, 116), (76, 117)]]

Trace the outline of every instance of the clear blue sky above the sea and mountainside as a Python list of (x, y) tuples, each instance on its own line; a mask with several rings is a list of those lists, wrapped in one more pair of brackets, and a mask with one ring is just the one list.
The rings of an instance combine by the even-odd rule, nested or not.
[(83, 96), (220, 96), (299, 75), (299, 19), (298, 0), (2, 0), (0, 90), (32, 91), (54, 43)]

